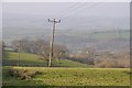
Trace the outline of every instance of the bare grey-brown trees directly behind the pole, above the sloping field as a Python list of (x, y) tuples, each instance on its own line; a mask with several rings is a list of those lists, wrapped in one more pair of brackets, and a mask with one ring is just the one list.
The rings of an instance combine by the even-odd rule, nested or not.
[[(22, 38), (12, 41), (11, 45), (15, 52), (36, 54), (41, 59), (48, 59), (51, 47), (47, 41)], [(66, 46), (54, 44), (53, 58), (65, 58), (67, 51)]]

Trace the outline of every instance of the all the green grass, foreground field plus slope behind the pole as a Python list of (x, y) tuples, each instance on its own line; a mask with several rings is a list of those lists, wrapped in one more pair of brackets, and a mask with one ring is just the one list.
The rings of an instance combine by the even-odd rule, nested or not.
[[(61, 59), (59, 62), (55, 59), (53, 61), (54, 67), (50, 68), (45, 67), (46, 62), (38, 59), (37, 55), (25, 53), (20, 54), (20, 67), (16, 67), (18, 53), (13, 52), (9, 52), (8, 58), (3, 58), (3, 63), (8, 64), (3, 66), (2, 72), (2, 85), (4, 88), (29, 88), (28, 86), (32, 86), (31, 88), (36, 88), (33, 86), (42, 86), (41, 88), (45, 88), (43, 86), (130, 86), (131, 73), (129, 68), (88, 68), (85, 64), (68, 59)], [(21, 79), (11, 76), (11, 69), (18, 70), (22, 76), (36, 72), (41, 74), (28, 79)]]

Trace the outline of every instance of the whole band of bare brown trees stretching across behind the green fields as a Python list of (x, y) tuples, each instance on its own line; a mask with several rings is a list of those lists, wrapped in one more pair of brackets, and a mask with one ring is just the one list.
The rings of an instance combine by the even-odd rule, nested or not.
[[(4, 43), (0, 45), (2, 48), (2, 55), (7, 56), (4, 48)], [(11, 47), (16, 53), (31, 53), (36, 54), (40, 59), (46, 59), (48, 62), (50, 57), (50, 42), (44, 40), (14, 40), (11, 42)], [(114, 53), (101, 52), (97, 53), (96, 50), (91, 47), (86, 47), (80, 50), (76, 54), (70, 54), (66, 46), (54, 44), (52, 59), (70, 59), (74, 62), (79, 62), (87, 64), (88, 66), (99, 67), (99, 68), (128, 68), (130, 67), (130, 53)]]

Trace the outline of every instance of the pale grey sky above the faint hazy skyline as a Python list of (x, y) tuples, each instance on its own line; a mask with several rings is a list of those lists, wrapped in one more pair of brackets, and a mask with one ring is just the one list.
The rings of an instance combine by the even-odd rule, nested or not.
[(3, 14), (14, 15), (96, 15), (96, 16), (129, 16), (127, 2), (7, 2), (3, 3)]

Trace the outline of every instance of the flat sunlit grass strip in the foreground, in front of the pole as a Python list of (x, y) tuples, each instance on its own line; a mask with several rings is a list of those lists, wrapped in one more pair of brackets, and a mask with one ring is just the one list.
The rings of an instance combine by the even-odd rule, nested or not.
[[(42, 72), (34, 78), (10, 77), (8, 69)], [(3, 86), (130, 86), (129, 68), (3, 67)]]

